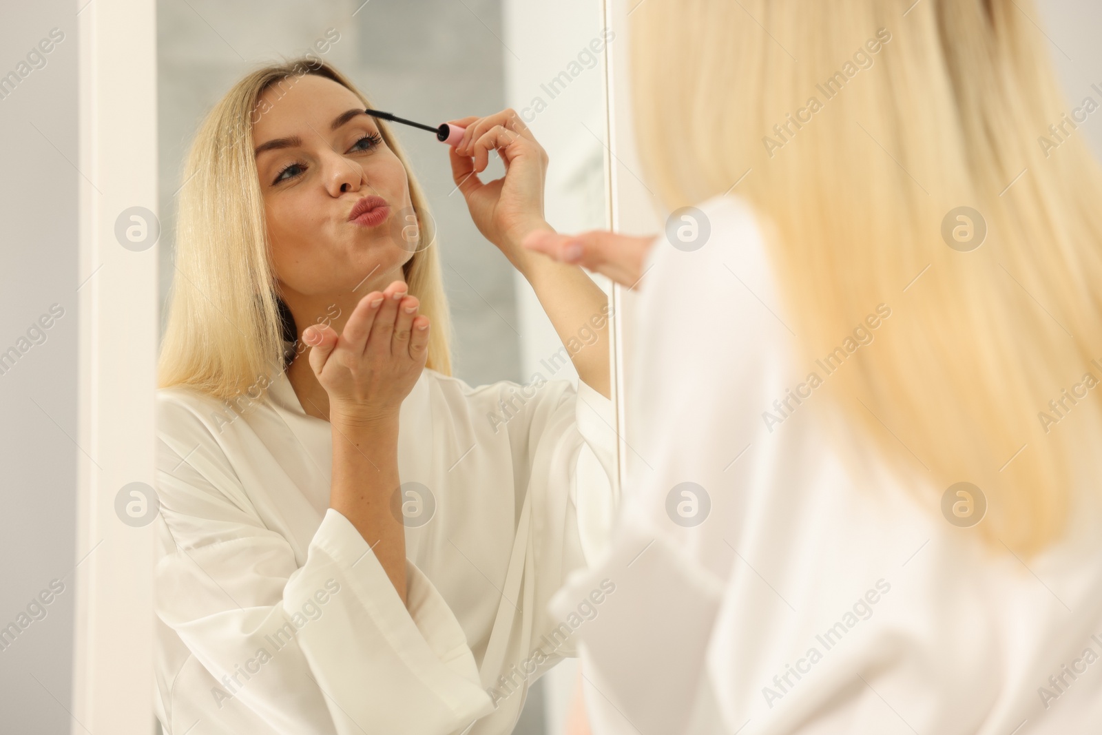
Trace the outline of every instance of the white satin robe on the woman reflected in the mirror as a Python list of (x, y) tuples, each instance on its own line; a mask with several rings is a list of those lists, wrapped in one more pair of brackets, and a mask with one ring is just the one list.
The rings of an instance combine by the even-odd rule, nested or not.
[[(407, 609), (328, 508), (329, 423), (285, 375), (270, 396), (234, 419), (194, 391), (158, 392), (166, 732), (432, 735), (479, 717), (471, 733), (511, 731), (528, 684), (574, 655), (541, 637), (560, 627), (551, 594), (607, 532), (612, 402), (584, 382), (533, 392), (422, 372), (399, 418), (399, 477), (420, 490), (403, 496)], [(418, 501), (435, 505), (423, 525)]]

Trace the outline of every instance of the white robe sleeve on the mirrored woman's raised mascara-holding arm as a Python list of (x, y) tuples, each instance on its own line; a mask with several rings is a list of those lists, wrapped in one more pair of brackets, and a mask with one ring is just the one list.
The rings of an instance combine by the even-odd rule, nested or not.
[[(509, 422), (517, 507), (525, 493), (532, 504), (533, 646), (566, 634), (565, 620), (552, 615), (548, 603), (572, 571), (603, 552), (619, 502), (612, 400), (582, 380), (576, 389), (565, 380), (549, 381), (537, 396)], [(547, 652), (540, 671), (576, 656), (571, 639)]]

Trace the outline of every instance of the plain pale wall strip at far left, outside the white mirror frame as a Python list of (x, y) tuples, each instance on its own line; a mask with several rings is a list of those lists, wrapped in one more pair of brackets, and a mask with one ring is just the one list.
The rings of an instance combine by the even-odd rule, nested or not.
[[(10, 646), (0, 648), (0, 729), (66, 733), (71, 720), (76, 457), (77, 19), (72, 2), (6, 3), (0, 75), (58, 29), (64, 39), (33, 61), (0, 98), (0, 353), (25, 348), (0, 367), (0, 628), (52, 580), (64, 592)], [(52, 304), (43, 337), (28, 331)], [(41, 342), (34, 344), (32, 338)], [(25, 339), (25, 342), (21, 342)], [(30, 621), (28, 616), (24, 620)]]

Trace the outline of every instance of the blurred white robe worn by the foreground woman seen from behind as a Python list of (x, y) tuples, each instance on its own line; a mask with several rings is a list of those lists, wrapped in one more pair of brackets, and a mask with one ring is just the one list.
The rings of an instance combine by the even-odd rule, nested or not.
[[(952, 479), (929, 478), (923, 505), (875, 460), (851, 471), (828, 439), (876, 455), (836, 415), (819, 415), (838, 377), (792, 357), (796, 325), (753, 215), (734, 198), (700, 208), (709, 240), (683, 251), (660, 239), (620, 311), (635, 337), (622, 514), (607, 555), (551, 604), (564, 615), (599, 581), (616, 585), (574, 631), (594, 735), (1098, 732), (1098, 511), (1073, 512), (1065, 544), (1027, 569), (1005, 552), (985, 556), (940, 515)], [(862, 350), (904, 326), (906, 285), (883, 294), (892, 315), (836, 369), (860, 368)], [(823, 383), (778, 415), (774, 401), (812, 370)], [(766, 411), (782, 418), (771, 432)], [(885, 431), (922, 458), (906, 425)], [(1099, 458), (1076, 458), (1084, 485), (1098, 486)], [(698, 526), (673, 521), (688, 522), (679, 502), (691, 510), (684, 486), (668, 502), (681, 483), (711, 500)], [(1062, 674), (1057, 690), (1049, 677), (1065, 664), (1077, 678)], [(1040, 688), (1059, 695), (1047, 709)]]

